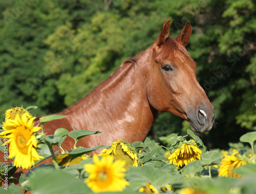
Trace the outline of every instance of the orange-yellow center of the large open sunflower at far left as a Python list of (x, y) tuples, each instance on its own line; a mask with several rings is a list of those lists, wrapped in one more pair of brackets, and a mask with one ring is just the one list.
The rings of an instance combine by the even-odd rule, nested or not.
[(15, 143), (19, 152), (28, 154), (29, 146), (26, 146), (29, 139), (31, 139), (30, 130), (25, 126), (18, 126), (15, 130)]

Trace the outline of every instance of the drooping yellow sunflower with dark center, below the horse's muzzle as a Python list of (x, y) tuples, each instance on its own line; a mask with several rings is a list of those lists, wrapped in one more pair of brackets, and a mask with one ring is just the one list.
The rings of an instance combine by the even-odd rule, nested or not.
[(191, 161), (201, 160), (202, 151), (195, 145), (183, 143), (181, 148), (174, 151), (172, 155), (168, 157), (169, 163), (177, 165), (177, 168), (187, 165)]

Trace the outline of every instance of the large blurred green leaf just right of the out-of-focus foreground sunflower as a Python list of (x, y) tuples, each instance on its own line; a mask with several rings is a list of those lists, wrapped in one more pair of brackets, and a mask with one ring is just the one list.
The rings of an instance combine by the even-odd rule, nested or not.
[(159, 189), (166, 184), (180, 183), (184, 177), (180, 174), (170, 176), (169, 173), (162, 171), (155, 166), (138, 166), (130, 167), (125, 177), (132, 187), (139, 189), (145, 186), (146, 183), (152, 184), (155, 188)]

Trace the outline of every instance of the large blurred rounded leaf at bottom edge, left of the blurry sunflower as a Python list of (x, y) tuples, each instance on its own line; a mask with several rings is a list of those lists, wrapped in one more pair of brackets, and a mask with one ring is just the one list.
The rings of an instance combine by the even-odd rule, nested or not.
[(38, 168), (29, 176), (33, 193), (93, 193), (83, 180), (67, 172), (54, 168)]

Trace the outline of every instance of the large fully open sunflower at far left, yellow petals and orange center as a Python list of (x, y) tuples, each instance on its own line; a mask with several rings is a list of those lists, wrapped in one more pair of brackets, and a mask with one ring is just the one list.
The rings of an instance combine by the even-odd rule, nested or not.
[(27, 114), (22, 115), (20, 119), (16, 114), (14, 120), (7, 119), (3, 123), (3, 131), (0, 137), (8, 139), (10, 143), (9, 158), (14, 158), (14, 165), (28, 169), (35, 164), (35, 161), (44, 158), (36, 152), (37, 142), (34, 133), (40, 130), (40, 127), (34, 127), (33, 121), (36, 117), (29, 118)]

